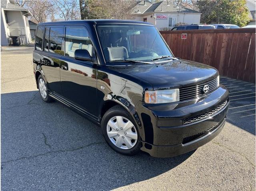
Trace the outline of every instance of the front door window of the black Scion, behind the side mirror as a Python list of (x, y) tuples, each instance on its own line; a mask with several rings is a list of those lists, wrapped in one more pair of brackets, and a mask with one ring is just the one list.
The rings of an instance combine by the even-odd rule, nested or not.
[(74, 57), (77, 49), (88, 50), (92, 56), (93, 49), (89, 34), (83, 27), (66, 27), (65, 56)]

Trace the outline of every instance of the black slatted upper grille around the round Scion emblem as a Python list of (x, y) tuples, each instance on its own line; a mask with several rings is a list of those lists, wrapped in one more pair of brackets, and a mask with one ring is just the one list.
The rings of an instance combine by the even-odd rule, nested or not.
[[(185, 88), (180, 88), (180, 101), (188, 100), (188, 99), (197, 99), (203, 97), (218, 88), (218, 78), (214, 80), (210, 80), (208, 82), (204, 82), (195, 86), (189, 86)], [(209, 90), (207, 93), (203, 92), (204, 85), (209, 86)]]

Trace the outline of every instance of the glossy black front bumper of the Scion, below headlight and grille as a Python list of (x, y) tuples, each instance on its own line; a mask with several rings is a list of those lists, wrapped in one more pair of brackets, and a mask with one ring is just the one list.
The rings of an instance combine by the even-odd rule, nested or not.
[[(223, 104), (221, 109), (216, 110)], [(140, 115), (144, 129), (140, 130), (142, 151), (153, 157), (173, 157), (211, 141), (224, 127), (229, 106), (228, 90), (221, 86), (196, 103), (181, 103), (174, 106), (174, 109), (168, 110), (162, 106), (152, 109), (147, 105), (141, 105)], [(216, 112), (202, 119), (185, 122), (186, 119), (209, 111)]]

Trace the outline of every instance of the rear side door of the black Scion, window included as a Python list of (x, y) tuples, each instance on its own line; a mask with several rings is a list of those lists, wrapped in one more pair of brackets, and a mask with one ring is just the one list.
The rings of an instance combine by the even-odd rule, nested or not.
[(60, 58), (63, 52), (64, 26), (45, 26), (44, 47), (40, 55), (41, 68), (51, 93), (62, 95), (60, 84)]

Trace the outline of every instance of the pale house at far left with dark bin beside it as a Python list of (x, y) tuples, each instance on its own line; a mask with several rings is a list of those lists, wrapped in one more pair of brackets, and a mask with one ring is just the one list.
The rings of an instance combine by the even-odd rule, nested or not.
[(10, 36), (20, 37), (21, 44), (31, 43), (28, 16), (32, 14), (14, 0), (1, 0), (1, 46), (10, 44)]

